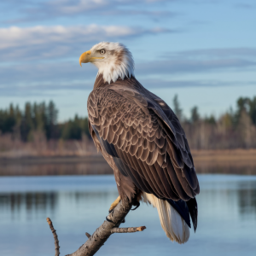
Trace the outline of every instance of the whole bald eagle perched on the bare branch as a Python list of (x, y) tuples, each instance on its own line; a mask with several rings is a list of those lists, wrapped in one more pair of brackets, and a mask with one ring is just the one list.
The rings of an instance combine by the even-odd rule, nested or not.
[(190, 217), (197, 227), (200, 187), (177, 116), (137, 81), (123, 44), (96, 44), (80, 56), (81, 66), (87, 62), (98, 67), (87, 102), (90, 135), (113, 169), (119, 191), (110, 211), (123, 199), (136, 207), (148, 202), (157, 208), (166, 236), (188, 241)]

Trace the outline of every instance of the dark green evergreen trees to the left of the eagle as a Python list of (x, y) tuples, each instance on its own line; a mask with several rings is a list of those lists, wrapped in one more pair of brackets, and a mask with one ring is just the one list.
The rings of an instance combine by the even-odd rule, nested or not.
[(25, 108), (14, 107), (0, 110), (0, 133), (11, 133), (14, 139), (29, 142), (41, 134), (47, 140), (81, 140), (89, 136), (88, 119), (75, 115), (67, 122), (58, 123), (58, 109), (55, 103), (26, 102)]

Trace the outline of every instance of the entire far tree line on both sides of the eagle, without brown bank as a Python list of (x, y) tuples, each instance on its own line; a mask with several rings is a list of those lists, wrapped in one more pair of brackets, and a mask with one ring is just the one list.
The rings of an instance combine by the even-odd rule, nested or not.
[[(218, 118), (201, 116), (195, 106), (189, 118), (183, 115), (178, 97), (173, 98), (173, 110), (183, 125), (194, 149), (256, 148), (256, 96), (240, 97), (236, 109)], [(54, 102), (26, 102), (24, 109), (10, 104), (0, 110), (0, 133), (11, 134), (13, 139), (31, 142), (38, 137), (44, 140), (81, 140), (89, 137), (88, 119), (75, 115), (67, 122), (58, 122), (58, 109)], [(39, 135), (39, 136), (38, 136)]]

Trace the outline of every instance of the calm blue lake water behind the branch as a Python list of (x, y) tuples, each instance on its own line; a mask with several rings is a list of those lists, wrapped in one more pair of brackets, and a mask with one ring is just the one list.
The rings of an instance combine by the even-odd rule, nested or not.
[[(256, 176), (199, 175), (196, 233), (179, 245), (161, 229), (156, 209), (142, 204), (96, 255), (256, 255)], [(110, 176), (0, 177), (0, 255), (54, 255), (46, 218), (59, 236), (61, 255), (73, 253), (108, 215), (117, 197)]]

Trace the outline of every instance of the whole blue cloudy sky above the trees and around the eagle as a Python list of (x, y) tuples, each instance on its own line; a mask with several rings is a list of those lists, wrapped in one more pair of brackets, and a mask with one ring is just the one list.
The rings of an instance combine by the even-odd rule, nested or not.
[(59, 120), (87, 115), (96, 67), (79, 56), (101, 41), (121, 42), (136, 78), (183, 113), (218, 117), (240, 96), (256, 96), (253, 0), (3, 0), (0, 109), (49, 102)]

